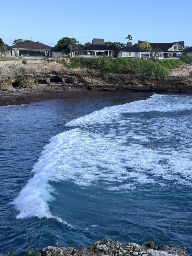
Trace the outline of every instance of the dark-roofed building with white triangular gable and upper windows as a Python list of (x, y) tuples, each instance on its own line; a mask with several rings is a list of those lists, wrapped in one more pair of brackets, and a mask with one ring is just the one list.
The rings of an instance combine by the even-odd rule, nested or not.
[[(143, 41), (138, 40), (138, 43)], [(149, 43), (151, 45), (152, 56), (158, 56), (163, 58), (179, 58), (183, 53), (184, 41), (178, 41), (173, 43)]]

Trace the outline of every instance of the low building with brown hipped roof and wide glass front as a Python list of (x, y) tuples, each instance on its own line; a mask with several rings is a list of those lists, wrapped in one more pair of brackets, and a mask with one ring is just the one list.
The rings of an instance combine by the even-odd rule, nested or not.
[(41, 44), (39, 42), (23, 42), (21, 44), (12, 45), (11, 48), (16, 51), (16, 55), (19, 56), (34, 56), (44, 57), (48, 56), (48, 51), (51, 50), (51, 46)]

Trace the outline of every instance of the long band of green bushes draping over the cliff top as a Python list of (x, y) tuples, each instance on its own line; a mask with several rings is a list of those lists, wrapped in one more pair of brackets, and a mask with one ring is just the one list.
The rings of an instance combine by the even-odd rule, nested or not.
[(103, 59), (103, 58), (73, 58), (69, 68), (99, 69), (104, 72), (118, 74), (143, 74), (150, 77), (169, 77), (169, 69), (183, 65), (180, 59), (161, 60), (132, 60), (132, 59)]

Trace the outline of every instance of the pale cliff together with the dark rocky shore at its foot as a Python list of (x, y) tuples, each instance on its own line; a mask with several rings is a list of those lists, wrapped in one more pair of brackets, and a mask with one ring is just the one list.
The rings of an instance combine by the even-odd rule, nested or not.
[(0, 105), (84, 97), (96, 92), (192, 93), (192, 65), (170, 71), (169, 78), (148, 74), (112, 74), (87, 68), (66, 68), (59, 60), (0, 63)]

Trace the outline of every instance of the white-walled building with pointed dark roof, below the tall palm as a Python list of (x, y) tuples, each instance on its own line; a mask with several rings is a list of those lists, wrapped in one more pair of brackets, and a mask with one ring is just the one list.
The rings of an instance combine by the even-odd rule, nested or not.
[(123, 57), (127, 57), (127, 58), (133, 58), (133, 57), (141, 58), (141, 53), (149, 53), (149, 52), (141, 51), (141, 50), (133, 47), (131, 42), (128, 42), (126, 44), (125, 48), (119, 49), (117, 51), (117, 57), (118, 58), (123, 58)]

